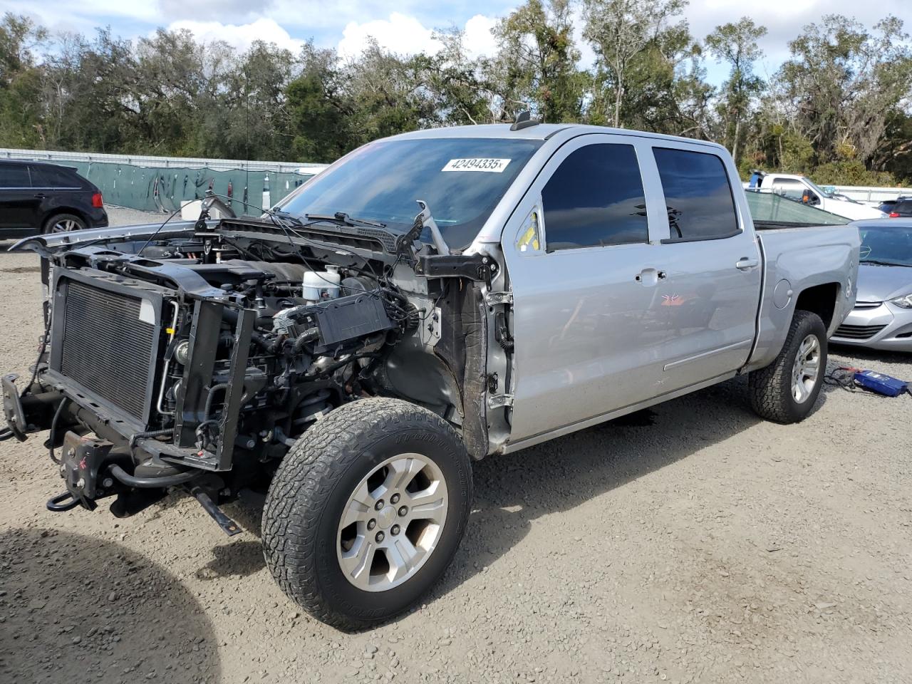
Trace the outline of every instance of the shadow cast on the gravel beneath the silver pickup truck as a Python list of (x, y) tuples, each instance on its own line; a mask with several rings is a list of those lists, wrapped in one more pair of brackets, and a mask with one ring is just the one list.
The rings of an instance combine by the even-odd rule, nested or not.
[[(825, 401), (823, 393), (815, 410)], [(747, 399), (747, 378), (734, 378), (682, 399), (580, 430), (473, 466), (474, 504), (455, 562), (428, 600), (443, 596), (507, 554), (534, 519), (567, 511), (649, 472), (748, 430), (759, 419)], [(742, 456), (732, 446), (733, 456)], [(607, 502), (610, 505), (610, 502)], [(262, 500), (233, 503), (225, 512), (254, 534)], [(213, 548), (203, 575), (249, 575), (263, 567), (254, 542)]]

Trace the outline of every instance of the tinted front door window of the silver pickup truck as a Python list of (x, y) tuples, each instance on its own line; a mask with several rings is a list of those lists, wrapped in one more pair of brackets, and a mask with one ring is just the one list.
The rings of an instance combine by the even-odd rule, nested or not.
[(549, 250), (648, 242), (646, 198), (632, 145), (572, 152), (542, 191)]

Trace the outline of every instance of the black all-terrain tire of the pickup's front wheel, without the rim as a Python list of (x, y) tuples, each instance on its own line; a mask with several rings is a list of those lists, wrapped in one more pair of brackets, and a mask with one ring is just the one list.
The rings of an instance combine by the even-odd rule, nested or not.
[[(339, 566), (340, 515), (372, 468), (407, 452), (430, 458), (443, 473), (448, 512), (440, 541), (403, 584), (364, 591)], [(445, 420), (399, 399), (360, 399), (330, 411), (279, 465), (263, 511), (266, 565), (316, 619), (347, 631), (370, 627), (407, 610), (437, 582), (460, 544), (471, 503), (472, 464)]]

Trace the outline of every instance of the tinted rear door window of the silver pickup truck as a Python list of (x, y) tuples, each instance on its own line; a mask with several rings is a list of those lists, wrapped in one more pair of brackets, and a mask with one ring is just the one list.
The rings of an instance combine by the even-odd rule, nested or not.
[(729, 177), (719, 157), (655, 148), (668, 206), (671, 240), (707, 240), (737, 233)]

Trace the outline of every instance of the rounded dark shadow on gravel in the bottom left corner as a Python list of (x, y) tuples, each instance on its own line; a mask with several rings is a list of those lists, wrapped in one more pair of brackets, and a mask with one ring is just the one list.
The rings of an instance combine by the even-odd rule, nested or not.
[(112, 542), (54, 530), (0, 534), (0, 618), (0, 681), (220, 679), (212, 626), (194, 597)]

